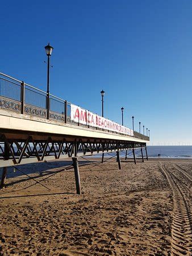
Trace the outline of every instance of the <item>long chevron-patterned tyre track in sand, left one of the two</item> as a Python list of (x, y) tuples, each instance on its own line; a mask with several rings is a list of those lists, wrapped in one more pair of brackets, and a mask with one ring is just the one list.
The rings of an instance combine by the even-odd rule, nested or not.
[(161, 162), (160, 168), (173, 191), (172, 255), (191, 255), (191, 213), (185, 187)]

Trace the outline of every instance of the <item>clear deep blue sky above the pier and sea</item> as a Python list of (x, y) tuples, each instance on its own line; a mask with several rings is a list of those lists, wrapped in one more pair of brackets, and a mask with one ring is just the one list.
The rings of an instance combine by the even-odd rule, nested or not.
[(105, 117), (151, 131), (151, 143), (192, 144), (192, 1), (1, 3), (0, 72)]

